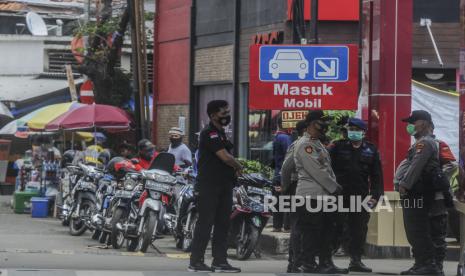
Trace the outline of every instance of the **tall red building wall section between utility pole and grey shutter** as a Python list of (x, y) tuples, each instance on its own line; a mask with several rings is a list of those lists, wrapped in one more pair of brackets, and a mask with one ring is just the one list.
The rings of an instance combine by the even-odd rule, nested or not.
[(166, 144), (167, 129), (188, 110), (191, 4), (156, 0), (152, 137), (157, 145)]

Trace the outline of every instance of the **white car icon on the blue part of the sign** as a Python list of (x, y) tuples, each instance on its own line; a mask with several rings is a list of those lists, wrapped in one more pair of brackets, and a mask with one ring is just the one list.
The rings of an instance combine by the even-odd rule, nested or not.
[(305, 79), (308, 74), (308, 60), (299, 49), (280, 49), (270, 60), (269, 73), (273, 79), (279, 74), (299, 74), (299, 79)]

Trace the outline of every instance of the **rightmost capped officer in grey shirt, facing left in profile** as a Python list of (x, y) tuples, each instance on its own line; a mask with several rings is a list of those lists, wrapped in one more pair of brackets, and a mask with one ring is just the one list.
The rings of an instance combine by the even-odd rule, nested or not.
[(450, 202), (448, 183), (442, 181), (439, 149), (434, 135), (431, 115), (415, 110), (402, 120), (407, 132), (415, 137), (396, 172), (401, 195), (404, 227), (412, 246), (415, 264), (402, 275), (443, 275), (445, 235), (447, 229), (446, 200)]

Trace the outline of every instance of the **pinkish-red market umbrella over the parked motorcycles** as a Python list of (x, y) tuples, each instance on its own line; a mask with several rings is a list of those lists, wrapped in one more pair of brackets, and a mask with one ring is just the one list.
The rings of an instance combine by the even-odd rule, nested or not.
[(129, 130), (131, 119), (118, 107), (103, 104), (92, 104), (68, 111), (45, 127), (47, 131), (107, 129)]

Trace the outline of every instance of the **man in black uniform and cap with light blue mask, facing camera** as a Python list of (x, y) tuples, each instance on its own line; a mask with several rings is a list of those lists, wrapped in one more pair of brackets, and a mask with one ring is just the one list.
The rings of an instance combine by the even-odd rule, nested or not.
[[(367, 125), (363, 120), (348, 119), (346, 130), (347, 139), (338, 140), (329, 147), (334, 173), (343, 187), (344, 206), (350, 207), (352, 196), (360, 196), (362, 200), (371, 196), (368, 203), (374, 207), (384, 190), (378, 149), (364, 139)], [(339, 218), (347, 224), (349, 270), (372, 272), (361, 260), (370, 214), (362, 208), (361, 212), (341, 213)]]

